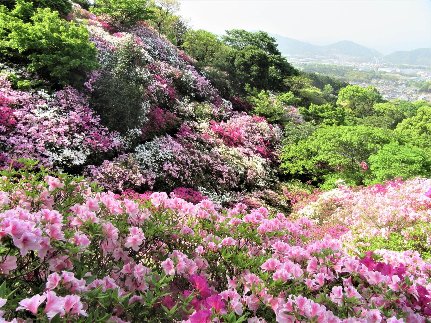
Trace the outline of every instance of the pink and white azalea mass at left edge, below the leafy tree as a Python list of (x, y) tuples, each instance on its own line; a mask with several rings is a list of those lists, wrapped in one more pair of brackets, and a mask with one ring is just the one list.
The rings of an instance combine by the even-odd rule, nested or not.
[[(0, 76), (0, 162), (16, 155), (59, 169), (83, 165), (97, 153), (121, 151), (122, 137), (100, 124), (87, 98), (72, 87), (49, 94), (13, 90)], [(4, 112), (4, 115), (3, 115)]]

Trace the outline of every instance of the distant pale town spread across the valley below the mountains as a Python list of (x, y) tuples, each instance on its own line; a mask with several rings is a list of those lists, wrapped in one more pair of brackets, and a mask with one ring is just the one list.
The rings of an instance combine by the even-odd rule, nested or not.
[(431, 102), (431, 93), (422, 91), (419, 93), (419, 88), (413, 86), (413, 84), (417, 84), (418, 82), (431, 81), (431, 68), (429, 66), (381, 64), (378, 59), (375, 62), (354, 62), (352, 61), (352, 57), (340, 55), (337, 57), (316, 56), (316, 58), (301, 58), (300, 56), (292, 55), (286, 55), (286, 57), (290, 64), (301, 70), (306, 69), (307, 72), (315, 69), (316, 72), (329, 74), (323, 72), (319, 66), (336, 65), (337, 67), (352, 71), (368, 72), (369, 75), (375, 73), (380, 78), (370, 78), (364, 81), (336, 77), (348, 81), (352, 85), (359, 85), (361, 87), (372, 85), (379, 90), (384, 99), (390, 102), (393, 102), (395, 99), (410, 102), (416, 100)]

